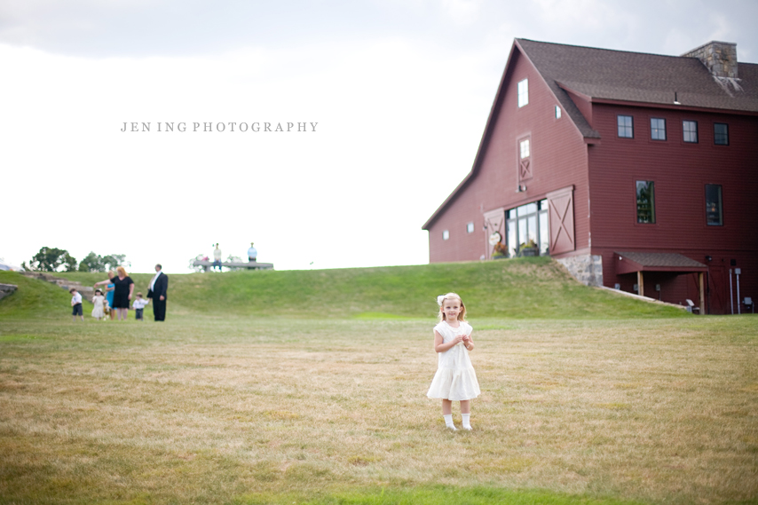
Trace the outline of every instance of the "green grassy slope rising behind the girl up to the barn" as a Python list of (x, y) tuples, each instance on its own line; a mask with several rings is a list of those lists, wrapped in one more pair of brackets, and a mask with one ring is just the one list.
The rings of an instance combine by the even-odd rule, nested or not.
[[(61, 273), (91, 284), (97, 273)], [(146, 293), (150, 274), (131, 276)], [(313, 271), (241, 271), (170, 275), (174, 314), (291, 315), (316, 318), (433, 317), (436, 297), (455, 291), (471, 317), (683, 317), (580, 285), (550, 258)], [(2, 304), (2, 303), (0, 303)], [(149, 312), (149, 309), (148, 309)]]

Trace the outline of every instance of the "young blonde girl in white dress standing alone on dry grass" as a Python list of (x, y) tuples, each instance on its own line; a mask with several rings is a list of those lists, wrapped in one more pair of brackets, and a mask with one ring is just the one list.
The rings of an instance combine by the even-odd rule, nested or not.
[(448, 293), (437, 297), (438, 320), (434, 327), (434, 351), (438, 353), (437, 373), (426, 396), (442, 398), (442, 417), (450, 430), (453, 423), (453, 402), (461, 402), (463, 429), (471, 430), (471, 398), (477, 398), (479, 383), (471, 366), (469, 351), (474, 350), (471, 325), (466, 322), (466, 307), (461, 296)]

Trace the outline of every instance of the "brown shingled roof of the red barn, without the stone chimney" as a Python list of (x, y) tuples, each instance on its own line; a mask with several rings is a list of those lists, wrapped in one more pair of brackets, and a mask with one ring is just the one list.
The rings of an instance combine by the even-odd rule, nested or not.
[(522, 53), (536, 68), (588, 143), (599, 140), (600, 134), (590, 126), (566, 90), (595, 103), (758, 113), (758, 65), (754, 63), (738, 63), (739, 78), (728, 79), (711, 75), (708, 68), (694, 57), (613, 51), (517, 38), (511, 47), (471, 170), (424, 223), (423, 230), (429, 229), (476, 176), (497, 117), (497, 104), (506, 89), (506, 76), (515, 51)]

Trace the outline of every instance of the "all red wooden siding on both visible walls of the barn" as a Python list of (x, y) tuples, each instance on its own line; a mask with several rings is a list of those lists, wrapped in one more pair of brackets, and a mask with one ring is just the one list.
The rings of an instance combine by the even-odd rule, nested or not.
[[(592, 103), (569, 92), (601, 141), (587, 145), (568, 114), (555, 117), (557, 100), (515, 45), (498, 102), (488, 123), (472, 176), (430, 223), (430, 262), (476, 260), (486, 256), (484, 213), (511, 209), (573, 186), (576, 251), (565, 255), (602, 257), (603, 281), (632, 291), (636, 275), (617, 275), (614, 252), (678, 252), (707, 264), (707, 305), (728, 313), (729, 270), (742, 268), (742, 297), (758, 299), (758, 118)], [(517, 83), (529, 79), (529, 104), (517, 107)], [(616, 115), (634, 117), (635, 138), (617, 138)], [(651, 140), (651, 117), (667, 123), (667, 139)], [(683, 142), (683, 120), (697, 121), (699, 142)], [(714, 145), (714, 123), (729, 124), (730, 145)], [(517, 139), (532, 140), (533, 178), (516, 193)], [(655, 181), (656, 223), (636, 223), (635, 181)], [(705, 185), (722, 185), (723, 226), (708, 226)], [(591, 188), (591, 192), (590, 192)], [(474, 233), (466, 224), (474, 223)], [(450, 240), (442, 240), (449, 230)], [(707, 261), (706, 256), (711, 256)], [(696, 274), (648, 273), (645, 296), (698, 303)], [(660, 284), (660, 294), (655, 291)], [(736, 287), (732, 295), (737, 297)]]

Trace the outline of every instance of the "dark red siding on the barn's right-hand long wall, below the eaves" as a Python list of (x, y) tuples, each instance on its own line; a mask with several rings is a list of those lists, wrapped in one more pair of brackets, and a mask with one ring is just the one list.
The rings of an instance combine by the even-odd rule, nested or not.
[[(617, 138), (616, 115), (634, 117), (635, 138)], [(703, 264), (721, 267), (735, 260), (743, 268), (742, 296), (758, 295), (758, 119), (746, 115), (714, 114), (595, 104), (594, 124), (603, 138), (589, 147), (592, 201), (592, 252), (603, 256), (606, 286), (620, 283), (631, 291), (634, 276), (617, 276), (614, 251), (679, 252)], [(650, 118), (664, 118), (667, 140), (651, 140)], [(698, 144), (683, 142), (683, 120), (697, 121)], [(730, 145), (715, 146), (713, 123), (729, 124)], [(636, 223), (635, 181), (655, 181), (656, 222)], [(705, 185), (722, 185), (722, 226), (706, 224)], [(711, 262), (706, 256), (712, 256)], [(719, 270), (719, 268), (715, 268)], [(663, 299), (697, 303), (697, 282), (680, 275), (661, 285)], [(714, 278), (718, 275), (714, 275)], [(716, 281), (722, 283), (721, 280)], [(645, 296), (657, 297), (654, 283), (645, 283)], [(721, 284), (713, 289), (722, 289)], [(746, 289), (748, 292), (746, 292)], [(728, 287), (726, 288), (728, 293)], [(735, 294), (736, 296), (736, 290)], [(723, 313), (714, 303), (712, 313)]]

